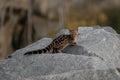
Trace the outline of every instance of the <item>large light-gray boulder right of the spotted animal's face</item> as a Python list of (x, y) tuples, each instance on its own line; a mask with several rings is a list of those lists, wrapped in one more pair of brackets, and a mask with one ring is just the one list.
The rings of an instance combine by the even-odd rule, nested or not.
[(78, 45), (89, 53), (102, 57), (109, 67), (119, 67), (120, 40), (111, 32), (102, 29), (89, 29), (86, 33), (79, 28)]

